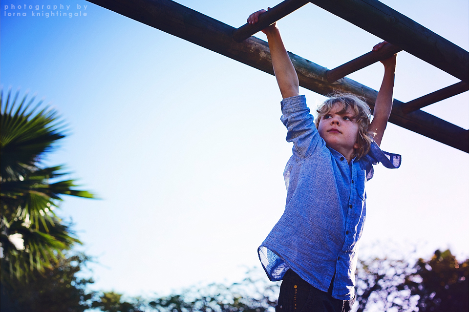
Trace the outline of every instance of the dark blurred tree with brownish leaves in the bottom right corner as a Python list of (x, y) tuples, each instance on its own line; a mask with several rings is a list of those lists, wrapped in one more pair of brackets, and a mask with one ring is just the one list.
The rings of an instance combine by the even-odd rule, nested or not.
[(419, 259), (402, 289), (419, 295), (419, 311), (469, 311), (469, 259), (459, 263), (449, 250)]

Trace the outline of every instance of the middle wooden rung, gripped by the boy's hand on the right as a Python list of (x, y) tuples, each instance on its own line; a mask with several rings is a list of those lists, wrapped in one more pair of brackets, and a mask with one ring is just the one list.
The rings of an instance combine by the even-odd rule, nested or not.
[(333, 83), (336, 80), (339, 80), (366, 66), (385, 60), (400, 51), (402, 51), (401, 48), (392, 45), (391, 43), (386, 43), (380, 50), (376, 52), (368, 52), (350, 62), (346, 62), (345, 64), (342, 64), (334, 69), (327, 71), (327, 81)]

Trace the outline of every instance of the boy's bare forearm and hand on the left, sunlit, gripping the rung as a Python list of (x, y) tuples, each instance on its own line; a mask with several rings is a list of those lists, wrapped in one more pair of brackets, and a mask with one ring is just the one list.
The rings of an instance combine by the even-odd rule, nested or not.
[[(260, 10), (251, 14), (248, 18), (248, 23), (255, 24), (259, 21), (259, 15), (264, 12), (265, 10)], [(299, 95), (298, 75), (295, 71), (295, 67), (293, 67), (290, 57), (288, 56), (285, 46), (283, 45), (276, 23), (263, 29), (262, 32), (266, 34), (269, 42), (275, 78), (277, 79), (282, 98), (286, 99)]]

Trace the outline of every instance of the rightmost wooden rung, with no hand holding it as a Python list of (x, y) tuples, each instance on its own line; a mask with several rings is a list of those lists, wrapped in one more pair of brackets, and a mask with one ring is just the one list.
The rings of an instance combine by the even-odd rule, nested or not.
[(443, 101), (445, 99), (448, 99), (452, 96), (455, 96), (457, 94), (463, 93), (468, 90), (469, 90), (469, 84), (461, 81), (459, 83), (455, 83), (450, 86), (447, 86), (446, 88), (424, 95), (423, 97), (420, 97), (418, 99), (402, 104), (402, 112), (404, 114), (408, 114), (422, 107), (428, 106), (436, 102)]

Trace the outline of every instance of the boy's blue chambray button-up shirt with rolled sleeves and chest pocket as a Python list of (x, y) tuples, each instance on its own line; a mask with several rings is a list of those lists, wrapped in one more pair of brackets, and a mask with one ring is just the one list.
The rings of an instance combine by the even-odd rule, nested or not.
[(258, 248), (259, 259), (271, 281), (288, 269), (321, 291), (334, 276), (332, 296), (355, 297), (357, 251), (366, 215), (365, 182), (381, 162), (398, 168), (401, 156), (371, 150), (350, 164), (326, 146), (303, 96), (281, 102), (280, 120), (287, 127), (293, 155), (283, 173), (287, 187), (285, 211)]

